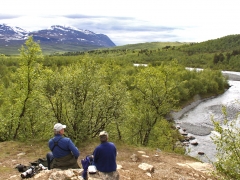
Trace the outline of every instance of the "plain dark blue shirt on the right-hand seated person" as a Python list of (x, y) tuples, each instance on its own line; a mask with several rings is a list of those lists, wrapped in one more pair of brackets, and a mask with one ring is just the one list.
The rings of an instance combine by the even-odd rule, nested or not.
[(112, 172), (116, 171), (116, 156), (117, 149), (111, 142), (101, 143), (93, 152), (94, 165), (98, 171), (101, 172)]

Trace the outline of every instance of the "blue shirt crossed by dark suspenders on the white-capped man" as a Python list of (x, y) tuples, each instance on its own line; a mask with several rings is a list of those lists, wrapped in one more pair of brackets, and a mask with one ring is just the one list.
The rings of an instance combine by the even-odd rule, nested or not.
[[(57, 141), (58, 145), (54, 147), (54, 142)], [(55, 135), (54, 138), (50, 139), (48, 142), (48, 146), (51, 151), (54, 147), (52, 151), (54, 158), (64, 157), (72, 153), (77, 159), (80, 155), (78, 148), (73, 144), (72, 140), (70, 138), (62, 137), (60, 134)]]

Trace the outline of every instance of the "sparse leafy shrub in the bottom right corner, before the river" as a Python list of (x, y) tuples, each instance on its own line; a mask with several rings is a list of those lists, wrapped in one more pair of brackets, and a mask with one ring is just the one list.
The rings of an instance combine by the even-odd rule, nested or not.
[(223, 175), (222, 179), (240, 179), (240, 127), (239, 118), (229, 121), (226, 116), (226, 108), (223, 108), (225, 120), (221, 124), (213, 120), (214, 130), (217, 132), (212, 137), (214, 144), (217, 146), (217, 161), (214, 163), (219, 174)]

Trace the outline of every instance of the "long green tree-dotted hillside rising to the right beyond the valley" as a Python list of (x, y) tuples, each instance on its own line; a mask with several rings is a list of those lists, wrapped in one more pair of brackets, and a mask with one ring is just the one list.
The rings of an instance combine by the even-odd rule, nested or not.
[(210, 68), (215, 70), (240, 71), (240, 35), (209, 40), (201, 43), (140, 43), (96, 49), (90, 51), (66, 52), (52, 56), (91, 56), (111, 57), (132, 63), (159, 65), (176, 60), (183, 66)]

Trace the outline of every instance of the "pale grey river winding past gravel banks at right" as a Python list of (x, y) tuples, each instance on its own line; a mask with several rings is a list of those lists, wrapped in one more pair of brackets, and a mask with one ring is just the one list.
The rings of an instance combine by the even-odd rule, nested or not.
[[(189, 156), (199, 159), (202, 162), (216, 161), (216, 146), (212, 142), (211, 136), (214, 133), (211, 117), (214, 120), (223, 121), (222, 107), (227, 109), (228, 120), (236, 119), (240, 112), (240, 72), (223, 71), (229, 77), (230, 88), (220, 96), (205, 101), (197, 100), (186, 107), (181, 115), (175, 116), (175, 123), (181, 129), (185, 129), (188, 136), (195, 137), (198, 145), (186, 147)], [(191, 141), (190, 141), (191, 142)], [(199, 155), (198, 152), (204, 152)]]

